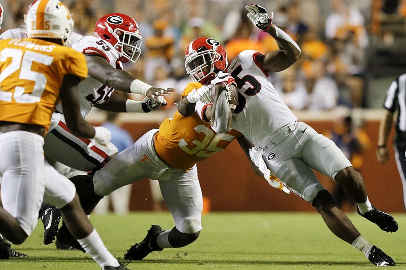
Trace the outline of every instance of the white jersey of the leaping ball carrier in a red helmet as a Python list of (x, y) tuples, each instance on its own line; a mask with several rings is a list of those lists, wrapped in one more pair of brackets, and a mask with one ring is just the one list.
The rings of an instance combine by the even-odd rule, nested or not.
[(239, 93), (246, 99), (243, 111), (233, 114), (231, 128), (262, 148), (272, 133), (297, 121), (297, 118), (268, 81), (268, 74), (255, 62), (258, 54), (262, 53), (253, 50), (241, 52), (227, 72), (231, 73)]

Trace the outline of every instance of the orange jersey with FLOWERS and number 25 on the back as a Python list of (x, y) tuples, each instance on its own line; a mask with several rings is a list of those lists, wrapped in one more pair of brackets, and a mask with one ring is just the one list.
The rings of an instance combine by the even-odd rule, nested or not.
[(48, 131), (65, 74), (87, 77), (83, 54), (37, 38), (0, 41), (0, 121)]

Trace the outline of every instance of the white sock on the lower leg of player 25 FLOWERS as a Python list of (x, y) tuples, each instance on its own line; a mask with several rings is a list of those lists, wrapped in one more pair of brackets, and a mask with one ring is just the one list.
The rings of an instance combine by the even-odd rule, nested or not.
[(78, 242), (101, 268), (108, 265), (113, 267), (120, 265), (118, 260), (107, 250), (95, 229), (87, 237), (78, 239)]

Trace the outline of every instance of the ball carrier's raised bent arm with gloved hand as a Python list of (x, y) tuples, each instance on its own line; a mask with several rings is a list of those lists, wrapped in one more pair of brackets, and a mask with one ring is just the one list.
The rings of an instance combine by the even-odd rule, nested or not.
[(255, 60), (259, 65), (267, 72), (278, 72), (296, 62), (299, 59), (301, 50), (287, 33), (273, 23), (274, 13), (271, 12), (269, 16), (263, 7), (256, 4), (247, 5), (245, 8), (249, 12), (247, 17), (252, 23), (274, 37), (279, 47), (278, 50), (269, 52), (264, 56), (258, 55)]

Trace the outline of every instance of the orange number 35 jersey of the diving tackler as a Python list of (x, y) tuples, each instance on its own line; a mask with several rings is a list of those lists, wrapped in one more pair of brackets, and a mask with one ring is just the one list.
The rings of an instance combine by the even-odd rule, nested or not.
[[(183, 91), (186, 96), (199, 83), (189, 83)], [(230, 142), (242, 136), (231, 130), (226, 134), (217, 134), (197, 114), (183, 117), (178, 111), (174, 118), (165, 119), (155, 135), (155, 150), (158, 156), (173, 168), (187, 170), (204, 161), (214, 153), (224, 150)]]

